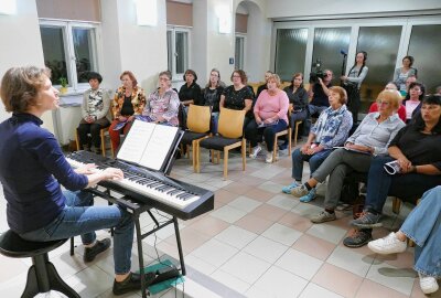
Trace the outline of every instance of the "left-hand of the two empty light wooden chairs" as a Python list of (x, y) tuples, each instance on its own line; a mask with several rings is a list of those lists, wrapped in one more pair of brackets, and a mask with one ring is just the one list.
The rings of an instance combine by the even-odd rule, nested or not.
[(196, 150), (198, 142), (209, 135), (209, 124), (212, 119), (212, 110), (209, 106), (189, 106), (189, 115), (186, 119), (187, 129), (181, 139), (181, 148), (186, 147), (189, 155), (190, 145), (192, 145), (193, 170), (196, 171)]

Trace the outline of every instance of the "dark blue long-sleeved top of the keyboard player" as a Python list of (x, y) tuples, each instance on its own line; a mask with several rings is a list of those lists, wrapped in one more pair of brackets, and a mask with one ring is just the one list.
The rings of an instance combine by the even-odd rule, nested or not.
[(0, 124), (0, 182), (8, 201), (11, 230), (24, 233), (52, 222), (64, 209), (60, 184), (68, 190), (87, 185), (73, 171), (54, 135), (30, 114), (14, 114)]

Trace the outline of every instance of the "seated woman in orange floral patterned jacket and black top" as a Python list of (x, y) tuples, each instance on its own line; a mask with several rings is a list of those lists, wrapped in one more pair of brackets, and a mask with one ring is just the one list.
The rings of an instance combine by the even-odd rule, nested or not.
[(138, 87), (138, 81), (131, 72), (123, 72), (119, 79), (121, 79), (122, 86), (117, 89), (114, 97), (111, 106), (114, 121), (109, 127), (114, 150), (119, 147), (119, 135), (121, 132), (126, 135), (129, 131), (135, 116), (141, 115), (146, 105), (144, 91)]

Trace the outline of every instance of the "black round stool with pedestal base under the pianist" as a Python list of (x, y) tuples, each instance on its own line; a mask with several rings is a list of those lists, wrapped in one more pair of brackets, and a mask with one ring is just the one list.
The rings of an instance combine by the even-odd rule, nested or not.
[(47, 257), (49, 252), (66, 241), (30, 242), (22, 240), (11, 230), (0, 236), (0, 254), (13, 258), (32, 257), (33, 265), (28, 270), (26, 286), (21, 298), (31, 298), (50, 290), (57, 290), (69, 298), (79, 298), (79, 295), (63, 281)]

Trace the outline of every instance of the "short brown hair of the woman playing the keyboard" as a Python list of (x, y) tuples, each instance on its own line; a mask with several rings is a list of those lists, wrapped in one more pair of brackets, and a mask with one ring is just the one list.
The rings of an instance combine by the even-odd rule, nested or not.
[(25, 113), (36, 104), (39, 91), (43, 87), (49, 73), (35, 66), (9, 68), (1, 79), (0, 97), (4, 109), (12, 113)]

